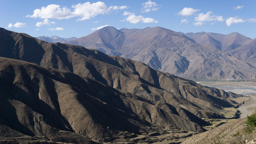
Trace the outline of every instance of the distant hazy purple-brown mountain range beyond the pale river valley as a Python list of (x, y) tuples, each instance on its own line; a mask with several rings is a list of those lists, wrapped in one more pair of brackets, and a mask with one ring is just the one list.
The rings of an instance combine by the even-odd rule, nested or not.
[(255, 39), (236, 32), (184, 34), (161, 27), (117, 30), (106, 26), (64, 43), (140, 61), (184, 78), (256, 78), (256, 64), (250, 59), (255, 54)]

